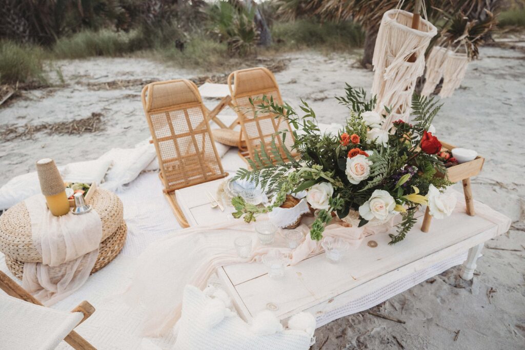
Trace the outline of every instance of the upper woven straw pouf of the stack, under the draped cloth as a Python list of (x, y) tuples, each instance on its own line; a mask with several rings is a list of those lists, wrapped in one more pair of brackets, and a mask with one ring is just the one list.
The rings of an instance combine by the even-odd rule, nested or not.
[[(122, 201), (116, 194), (97, 188), (89, 204), (97, 211), (102, 221), (103, 241), (122, 224)], [(23, 201), (0, 216), (0, 251), (18, 261), (42, 261), (42, 256), (33, 245), (29, 212)]]

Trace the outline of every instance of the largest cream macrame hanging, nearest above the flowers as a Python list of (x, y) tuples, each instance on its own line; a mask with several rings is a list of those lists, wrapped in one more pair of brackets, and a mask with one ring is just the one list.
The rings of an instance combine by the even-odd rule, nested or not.
[(425, 50), (437, 34), (426, 19), (414, 21), (416, 26), (411, 28), (413, 16), (400, 9), (388, 10), (375, 41), (372, 93), (377, 95), (376, 111), (384, 113), (384, 107), (392, 111), (383, 123), (385, 130), (397, 119), (408, 120), (416, 79), (425, 70)]

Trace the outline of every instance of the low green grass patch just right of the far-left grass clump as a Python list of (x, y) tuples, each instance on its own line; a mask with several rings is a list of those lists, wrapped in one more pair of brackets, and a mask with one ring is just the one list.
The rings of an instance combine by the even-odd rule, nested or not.
[(122, 56), (133, 49), (137, 33), (111, 30), (81, 31), (69, 37), (58, 39), (51, 55), (59, 59), (75, 59), (93, 56)]

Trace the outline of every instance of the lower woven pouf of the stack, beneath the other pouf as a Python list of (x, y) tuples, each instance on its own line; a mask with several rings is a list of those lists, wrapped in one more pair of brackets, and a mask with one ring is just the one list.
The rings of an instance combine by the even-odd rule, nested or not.
[[(128, 228), (126, 223), (122, 220), (117, 231), (100, 243), (97, 261), (95, 262), (95, 266), (93, 266), (91, 273), (95, 273), (102, 269), (118, 256), (122, 247), (124, 247), (127, 233)], [(9, 271), (11, 271), (17, 278), (22, 279), (22, 274), (24, 273), (23, 261), (16, 260), (6, 255), (5, 263)], [(61, 274), (64, 271), (57, 270), (55, 272)]]

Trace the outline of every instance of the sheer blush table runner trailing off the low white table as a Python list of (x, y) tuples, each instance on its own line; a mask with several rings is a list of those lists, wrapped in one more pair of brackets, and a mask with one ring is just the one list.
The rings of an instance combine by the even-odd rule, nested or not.
[[(265, 217), (258, 217), (264, 220)], [(255, 233), (255, 225), (241, 220), (226, 221), (213, 226), (190, 227), (167, 235), (153, 242), (139, 256), (134, 279), (124, 298), (129, 305), (141, 305), (145, 312), (143, 335), (159, 336), (169, 331), (181, 315), (181, 303), (186, 284), (204, 289), (214, 271), (228, 264), (260, 261), (262, 254), (279, 249), (289, 254), (291, 264), (297, 264), (312, 253), (321, 251), (320, 242), (308, 235), (304, 220), (297, 229), (307, 234), (295, 250), (287, 248), (285, 238), (277, 232), (272, 246), (261, 245)], [(385, 227), (351, 228), (343, 222), (328, 225), (324, 237), (342, 237), (351, 248), (358, 248), (368, 231), (377, 232)], [(388, 227), (389, 228), (389, 227)], [(241, 259), (234, 248), (239, 236), (251, 236), (251, 257)]]

